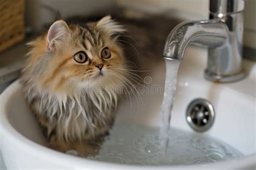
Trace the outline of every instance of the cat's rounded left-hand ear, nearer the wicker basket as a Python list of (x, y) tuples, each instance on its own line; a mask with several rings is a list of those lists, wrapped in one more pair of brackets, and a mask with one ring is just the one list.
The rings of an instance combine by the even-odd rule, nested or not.
[(53, 23), (48, 31), (47, 35), (47, 44), (50, 50), (57, 45), (57, 43), (61, 43), (68, 36), (69, 26), (65, 21), (59, 20)]

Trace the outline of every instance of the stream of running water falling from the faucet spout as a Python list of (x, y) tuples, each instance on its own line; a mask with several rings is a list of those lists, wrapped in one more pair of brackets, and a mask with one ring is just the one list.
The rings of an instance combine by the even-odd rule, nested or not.
[(163, 104), (161, 107), (161, 126), (160, 126), (160, 146), (163, 158), (165, 159), (165, 154), (167, 152), (167, 146), (169, 142), (169, 132), (170, 132), (170, 121), (171, 112), (174, 101), (174, 95), (176, 92), (177, 75), (179, 70), (180, 60), (168, 60), (165, 59), (166, 64), (166, 78), (165, 78), (165, 92)]

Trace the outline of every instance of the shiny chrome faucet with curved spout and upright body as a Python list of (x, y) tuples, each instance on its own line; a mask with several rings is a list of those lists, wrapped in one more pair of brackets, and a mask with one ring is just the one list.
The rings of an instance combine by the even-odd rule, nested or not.
[(242, 79), (243, 10), (242, 0), (210, 0), (210, 19), (177, 25), (166, 39), (164, 58), (182, 60), (191, 43), (207, 46), (207, 80), (232, 82)]

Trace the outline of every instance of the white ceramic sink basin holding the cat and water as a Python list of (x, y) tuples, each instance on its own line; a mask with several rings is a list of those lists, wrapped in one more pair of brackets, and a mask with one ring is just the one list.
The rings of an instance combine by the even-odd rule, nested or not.
[[(186, 123), (186, 107), (193, 99), (205, 98), (213, 104), (216, 117), (210, 130), (200, 135), (211, 135), (220, 139), (238, 149), (245, 157), (207, 165), (148, 167), (111, 164), (60, 153), (44, 146), (45, 140), (41, 135), (41, 130), (26, 105), (21, 84), (16, 81), (0, 96), (0, 144), (6, 167), (8, 169), (254, 169), (256, 166), (256, 64), (244, 60), (246, 71), (244, 80), (231, 84), (215, 84), (203, 78), (206, 59), (206, 49), (190, 46), (186, 50), (179, 69), (171, 126), (196, 133)], [(152, 82), (146, 85), (164, 85), (164, 60), (156, 63), (150, 77)], [(132, 121), (147, 126), (159, 126), (163, 94), (144, 93), (141, 97), (143, 107), (138, 107), (134, 98), (131, 109), (126, 101), (121, 103), (118, 107), (116, 121)]]

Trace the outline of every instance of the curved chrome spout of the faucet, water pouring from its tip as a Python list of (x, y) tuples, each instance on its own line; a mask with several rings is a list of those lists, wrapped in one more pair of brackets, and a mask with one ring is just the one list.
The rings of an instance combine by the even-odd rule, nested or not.
[(228, 28), (218, 19), (183, 22), (177, 25), (166, 39), (163, 56), (182, 60), (186, 47), (193, 43), (219, 47), (228, 42)]

